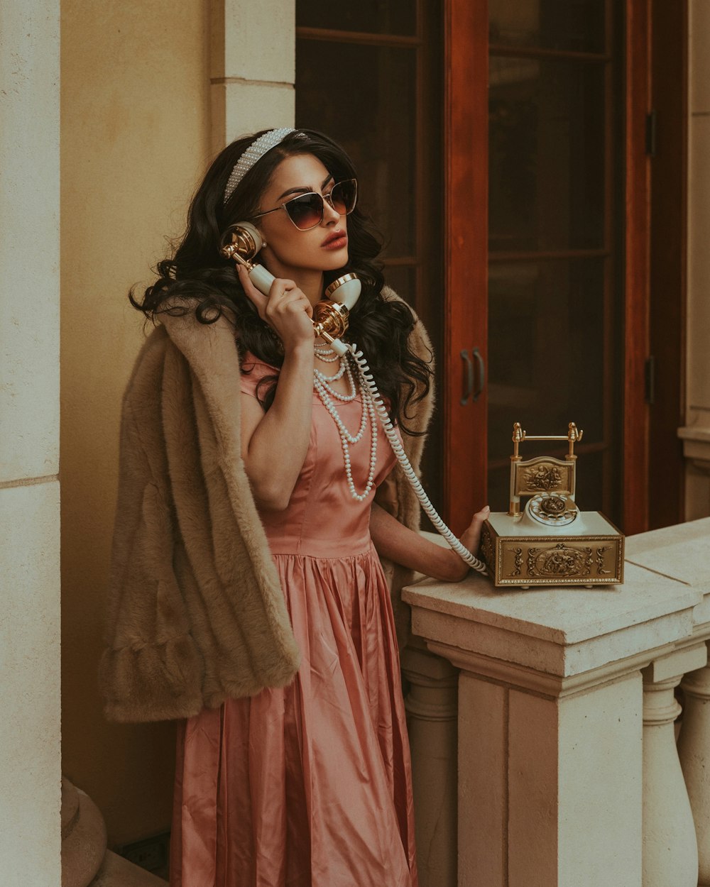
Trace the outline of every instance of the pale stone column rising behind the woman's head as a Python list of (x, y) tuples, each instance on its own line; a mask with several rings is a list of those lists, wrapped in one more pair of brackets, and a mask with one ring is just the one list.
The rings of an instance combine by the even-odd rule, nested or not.
[(293, 126), (295, 0), (211, 0), (212, 147)]

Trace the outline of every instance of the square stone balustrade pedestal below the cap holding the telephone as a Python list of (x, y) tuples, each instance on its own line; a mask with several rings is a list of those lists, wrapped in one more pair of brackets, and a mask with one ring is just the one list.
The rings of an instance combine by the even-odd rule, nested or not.
[(640, 887), (640, 673), (555, 681), (430, 646), (462, 670), (459, 887)]

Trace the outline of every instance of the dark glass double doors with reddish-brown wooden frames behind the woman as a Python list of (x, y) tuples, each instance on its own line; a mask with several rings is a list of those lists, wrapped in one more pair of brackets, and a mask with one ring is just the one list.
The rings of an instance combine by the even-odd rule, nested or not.
[(456, 532), (506, 507), (516, 420), (577, 422), (580, 506), (648, 525), (648, 4), (296, 4), (296, 123), (353, 156), (432, 334), (424, 483)]

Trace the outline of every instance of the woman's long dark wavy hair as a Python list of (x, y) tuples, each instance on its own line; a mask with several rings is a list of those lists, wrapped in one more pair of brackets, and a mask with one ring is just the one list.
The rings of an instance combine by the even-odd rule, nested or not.
[[(265, 364), (280, 367), (283, 349), (244, 293), (233, 261), (220, 254), (223, 233), (230, 225), (256, 216), (274, 170), (292, 154), (317, 157), (336, 182), (356, 177), (343, 148), (322, 133), (296, 130), (248, 170), (225, 202), (225, 185), (235, 163), (263, 132), (240, 138), (217, 155), (195, 192), (187, 229), (177, 241), (172, 257), (157, 264), (158, 279), (147, 287), (142, 301), (138, 301), (135, 288), (129, 294), (133, 307), (153, 320), (161, 313), (181, 315), (194, 310), (200, 323), (210, 324), (226, 309), (227, 316), (234, 318), (242, 370), (247, 351)], [(389, 401), (390, 417), (407, 434), (415, 434), (406, 427), (406, 419), (410, 418), (407, 408), (428, 393), (431, 367), (409, 346), (409, 334), (414, 327), (412, 311), (405, 302), (383, 297), (382, 265), (377, 261), (382, 243), (374, 224), (359, 206), (348, 216), (348, 248), (349, 263), (336, 271), (326, 271), (324, 284), (327, 287), (349, 271), (358, 275), (362, 293), (351, 310), (344, 338), (356, 341), (367, 357), (377, 387)], [(189, 305), (176, 304), (181, 299), (189, 299)], [(257, 389), (264, 410), (272, 404), (277, 381), (278, 375), (267, 376)]]

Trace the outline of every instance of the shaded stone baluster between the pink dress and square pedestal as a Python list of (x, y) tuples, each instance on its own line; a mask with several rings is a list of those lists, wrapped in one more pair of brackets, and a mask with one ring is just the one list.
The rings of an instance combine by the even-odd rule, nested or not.
[(424, 648), (402, 652), (412, 750), (420, 887), (456, 884), (456, 688), (451, 663)]

